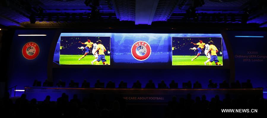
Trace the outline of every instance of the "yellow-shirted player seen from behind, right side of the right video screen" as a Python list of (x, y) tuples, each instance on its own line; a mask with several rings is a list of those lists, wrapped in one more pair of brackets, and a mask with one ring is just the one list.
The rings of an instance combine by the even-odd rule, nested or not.
[[(216, 63), (216, 65), (222, 65), (219, 62), (218, 60), (218, 57), (217, 57), (217, 54), (218, 53), (218, 49), (215, 45), (213, 45), (213, 41), (210, 41), (209, 43), (209, 51), (211, 51), (211, 56), (210, 56), (210, 60), (209, 60), (209, 65), (212, 65), (212, 62), (214, 61)], [(209, 53), (208, 51), (208, 53)]]

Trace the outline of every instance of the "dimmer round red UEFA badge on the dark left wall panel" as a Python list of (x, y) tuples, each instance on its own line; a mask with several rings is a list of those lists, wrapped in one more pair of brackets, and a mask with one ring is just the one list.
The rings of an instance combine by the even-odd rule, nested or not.
[(39, 55), (40, 48), (35, 42), (28, 42), (22, 48), (22, 55), (28, 59), (35, 59)]

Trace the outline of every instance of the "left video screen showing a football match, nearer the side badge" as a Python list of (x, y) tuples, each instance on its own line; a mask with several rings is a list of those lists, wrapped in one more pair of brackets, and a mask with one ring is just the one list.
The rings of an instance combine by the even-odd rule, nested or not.
[(61, 36), (59, 64), (110, 65), (110, 37)]

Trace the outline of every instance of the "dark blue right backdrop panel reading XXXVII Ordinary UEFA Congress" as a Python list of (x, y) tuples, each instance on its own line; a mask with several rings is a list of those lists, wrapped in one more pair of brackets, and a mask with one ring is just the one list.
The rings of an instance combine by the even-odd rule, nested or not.
[(235, 79), (240, 82), (250, 79), (253, 87), (263, 87), (267, 98), (266, 32), (229, 31), (227, 34), (233, 50)]

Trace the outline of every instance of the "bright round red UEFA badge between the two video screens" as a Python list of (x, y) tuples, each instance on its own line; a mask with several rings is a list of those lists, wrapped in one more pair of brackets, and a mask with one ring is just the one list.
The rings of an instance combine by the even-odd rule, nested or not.
[(151, 47), (145, 41), (137, 41), (132, 46), (131, 53), (136, 60), (143, 61), (149, 58)]

